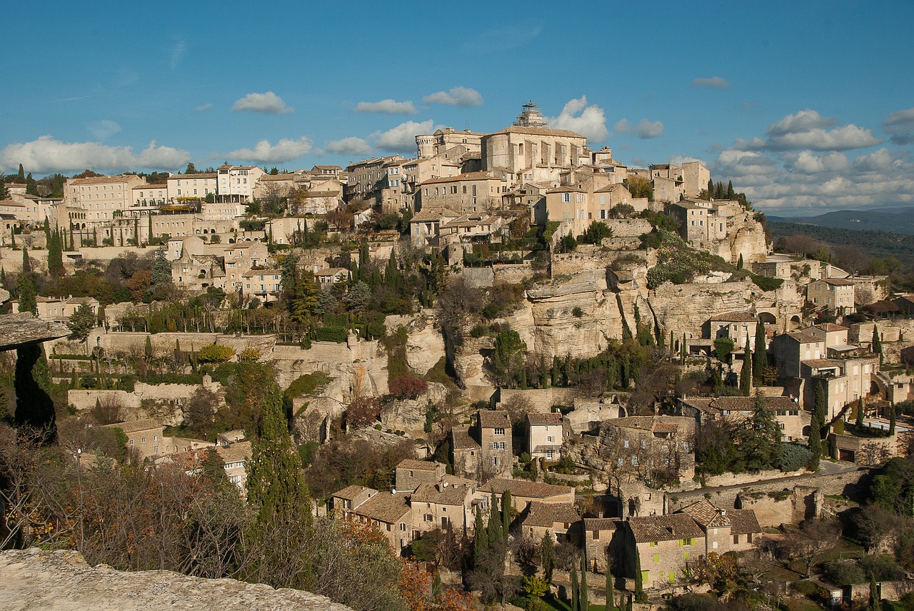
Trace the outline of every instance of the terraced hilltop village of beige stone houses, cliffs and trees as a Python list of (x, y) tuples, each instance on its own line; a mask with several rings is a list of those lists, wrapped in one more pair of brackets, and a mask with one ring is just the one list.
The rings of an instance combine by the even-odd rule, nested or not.
[[(353, 608), (914, 591), (914, 295), (775, 252), (703, 163), (629, 167), (533, 103), (416, 144), (345, 168), (87, 170), (61, 195), (6, 176), (5, 546)], [(52, 475), (14, 458), (13, 425), (61, 448), (52, 475), (79, 494), (37, 491)], [(277, 526), (263, 507), (290, 481), (307, 497)], [(236, 521), (154, 520), (218, 495)], [(272, 524), (258, 562), (249, 513)], [(370, 541), (386, 573), (362, 548), (345, 584), (263, 560), (303, 562), (275, 551), (306, 528)]]

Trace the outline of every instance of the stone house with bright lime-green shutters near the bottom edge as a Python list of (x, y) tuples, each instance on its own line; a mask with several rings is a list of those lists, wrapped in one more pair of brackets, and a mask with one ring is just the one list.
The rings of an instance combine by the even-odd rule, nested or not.
[(645, 590), (675, 584), (689, 559), (705, 553), (705, 532), (686, 513), (630, 518), (622, 523), (628, 527), (629, 544), (624, 546), (621, 564), (627, 574), (641, 572)]

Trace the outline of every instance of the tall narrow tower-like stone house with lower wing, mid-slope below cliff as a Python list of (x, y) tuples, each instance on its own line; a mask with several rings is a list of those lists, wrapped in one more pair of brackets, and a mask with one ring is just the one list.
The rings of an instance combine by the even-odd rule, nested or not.
[(452, 427), (451, 463), (454, 474), (485, 481), (511, 474), (514, 454), (511, 418), (504, 410), (480, 410), (471, 427)]

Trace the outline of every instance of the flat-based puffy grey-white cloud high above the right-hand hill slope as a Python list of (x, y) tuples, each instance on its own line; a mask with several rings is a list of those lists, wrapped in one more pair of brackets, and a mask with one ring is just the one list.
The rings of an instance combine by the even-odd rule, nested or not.
[(817, 111), (806, 109), (772, 123), (765, 132), (765, 138), (738, 138), (733, 147), (745, 151), (849, 151), (882, 142), (873, 135), (872, 130), (853, 123), (834, 127), (837, 124), (837, 119), (823, 117)]

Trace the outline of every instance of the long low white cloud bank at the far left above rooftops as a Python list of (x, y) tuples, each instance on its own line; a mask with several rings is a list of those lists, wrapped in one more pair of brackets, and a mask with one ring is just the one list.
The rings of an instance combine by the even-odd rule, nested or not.
[(60, 142), (41, 136), (32, 142), (14, 142), (0, 151), (0, 167), (14, 169), (19, 163), (30, 172), (73, 172), (90, 168), (102, 172), (125, 170), (174, 170), (190, 161), (190, 153), (155, 141), (139, 154), (131, 146), (108, 146), (100, 142)]

